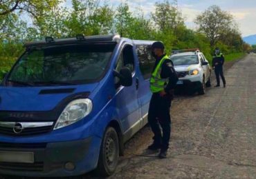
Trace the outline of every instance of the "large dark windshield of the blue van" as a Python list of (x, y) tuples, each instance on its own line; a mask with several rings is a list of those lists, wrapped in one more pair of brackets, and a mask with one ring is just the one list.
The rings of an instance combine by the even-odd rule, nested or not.
[(75, 85), (93, 83), (106, 72), (115, 44), (64, 45), (27, 50), (7, 85)]

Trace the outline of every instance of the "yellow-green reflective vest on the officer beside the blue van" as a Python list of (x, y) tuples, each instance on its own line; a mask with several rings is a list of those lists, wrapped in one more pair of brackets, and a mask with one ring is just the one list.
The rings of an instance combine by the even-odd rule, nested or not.
[(168, 78), (161, 78), (161, 68), (166, 59), (169, 59), (167, 55), (163, 56), (163, 59), (156, 65), (156, 69), (152, 73), (152, 76), (150, 78), (150, 89), (151, 92), (161, 92), (163, 89), (165, 89), (165, 85), (168, 83)]

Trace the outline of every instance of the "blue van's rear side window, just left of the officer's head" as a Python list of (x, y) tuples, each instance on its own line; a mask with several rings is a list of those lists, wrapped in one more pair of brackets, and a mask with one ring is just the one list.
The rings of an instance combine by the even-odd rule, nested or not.
[(136, 45), (136, 52), (138, 54), (138, 60), (140, 62), (140, 72), (143, 74), (143, 78), (150, 78), (156, 61), (152, 56), (151, 46)]

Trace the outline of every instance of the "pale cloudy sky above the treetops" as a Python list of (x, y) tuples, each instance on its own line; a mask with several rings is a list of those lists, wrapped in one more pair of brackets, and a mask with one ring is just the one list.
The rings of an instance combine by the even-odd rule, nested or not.
[[(111, 1), (120, 3), (122, 0)], [(145, 14), (149, 14), (154, 11), (156, 0), (128, 0), (127, 2), (131, 10), (140, 6)], [(197, 14), (209, 6), (217, 5), (234, 15), (242, 36), (256, 34), (256, 0), (178, 0), (178, 4), (189, 28), (194, 28), (193, 21)]]

